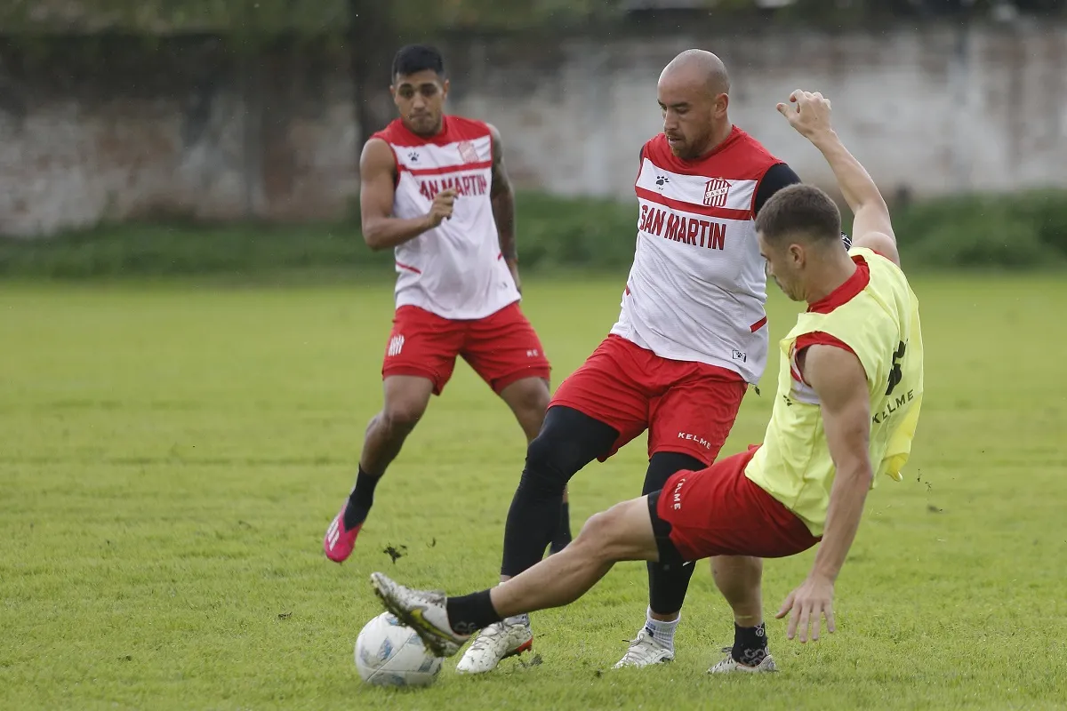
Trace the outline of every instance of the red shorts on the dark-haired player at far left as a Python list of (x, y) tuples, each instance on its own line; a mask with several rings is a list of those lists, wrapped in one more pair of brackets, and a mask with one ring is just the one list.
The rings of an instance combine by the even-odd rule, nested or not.
[(453, 321), (417, 306), (401, 306), (393, 317), (382, 377), (417, 375), (433, 382), (440, 395), (463, 356), (499, 394), (526, 377), (548, 379), (552, 371), (541, 340), (515, 302), (484, 319)]

